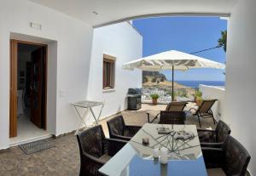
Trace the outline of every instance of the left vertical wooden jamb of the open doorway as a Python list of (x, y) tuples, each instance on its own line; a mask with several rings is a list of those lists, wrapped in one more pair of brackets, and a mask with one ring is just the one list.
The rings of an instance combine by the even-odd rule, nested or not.
[(17, 136), (17, 60), (18, 43), (10, 40), (9, 137)]

